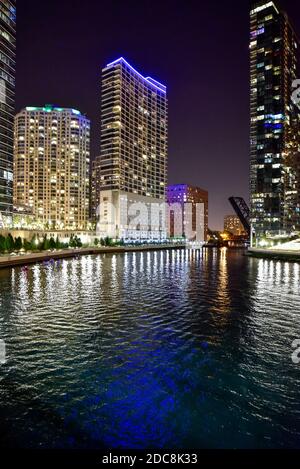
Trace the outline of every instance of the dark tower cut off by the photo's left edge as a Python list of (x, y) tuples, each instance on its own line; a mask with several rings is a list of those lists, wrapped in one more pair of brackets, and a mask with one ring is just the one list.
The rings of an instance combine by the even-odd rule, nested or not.
[(13, 211), (13, 132), (15, 114), (16, 0), (0, 0), (0, 214)]

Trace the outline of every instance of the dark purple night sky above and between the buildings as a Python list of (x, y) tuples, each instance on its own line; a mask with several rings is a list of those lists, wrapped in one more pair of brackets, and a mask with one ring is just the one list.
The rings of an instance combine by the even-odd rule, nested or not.
[[(300, 33), (298, 0), (282, 1)], [(123, 56), (166, 84), (169, 183), (209, 191), (222, 228), (248, 200), (248, 0), (18, 0), (17, 111), (57, 104), (92, 121), (100, 149), (101, 69)]]

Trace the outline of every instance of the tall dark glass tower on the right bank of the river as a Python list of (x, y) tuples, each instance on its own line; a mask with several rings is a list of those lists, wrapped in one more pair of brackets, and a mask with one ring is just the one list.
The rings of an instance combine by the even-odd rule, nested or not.
[(299, 42), (273, 1), (251, 6), (251, 218), (257, 237), (299, 225), (298, 108), (292, 100)]

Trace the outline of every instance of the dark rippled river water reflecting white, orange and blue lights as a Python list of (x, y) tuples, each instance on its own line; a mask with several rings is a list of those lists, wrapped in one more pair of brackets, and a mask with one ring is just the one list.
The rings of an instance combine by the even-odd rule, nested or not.
[(226, 251), (0, 271), (0, 445), (299, 448), (299, 279)]

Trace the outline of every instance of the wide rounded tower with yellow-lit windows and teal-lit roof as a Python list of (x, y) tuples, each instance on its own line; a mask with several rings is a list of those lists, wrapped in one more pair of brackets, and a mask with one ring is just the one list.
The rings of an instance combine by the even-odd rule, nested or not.
[(14, 203), (45, 229), (85, 229), (90, 121), (75, 109), (27, 107), (15, 118)]

